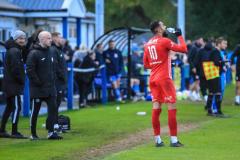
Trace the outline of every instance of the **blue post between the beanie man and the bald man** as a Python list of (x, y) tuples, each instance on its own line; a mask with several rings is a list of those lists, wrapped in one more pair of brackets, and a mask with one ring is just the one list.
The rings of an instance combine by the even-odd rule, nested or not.
[(30, 92), (29, 92), (29, 79), (26, 76), (24, 95), (23, 95), (23, 116), (28, 117), (30, 111)]

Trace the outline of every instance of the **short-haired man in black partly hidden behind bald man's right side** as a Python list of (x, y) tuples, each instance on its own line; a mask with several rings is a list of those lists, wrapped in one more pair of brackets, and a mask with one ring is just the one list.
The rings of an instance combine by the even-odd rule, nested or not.
[[(60, 107), (62, 98), (64, 96), (64, 91), (67, 88), (67, 65), (64, 58), (64, 53), (62, 49), (62, 37), (60, 33), (54, 32), (52, 33), (52, 48), (55, 49), (55, 69), (56, 69), (56, 89), (57, 89), (57, 118), (58, 119), (58, 109)], [(56, 122), (54, 125), (54, 129), (61, 131), (59, 128), (58, 123)]]

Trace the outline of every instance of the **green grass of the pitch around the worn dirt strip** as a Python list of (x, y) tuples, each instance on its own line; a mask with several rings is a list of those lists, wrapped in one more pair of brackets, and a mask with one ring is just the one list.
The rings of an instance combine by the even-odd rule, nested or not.
[[(153, 142), (106, 155), (105, 160), (155, 160), (155, 159), (204, 159), (204, 160), (235, 160), (239, 154), (239, 108), (232, 106), (234, 86), (228, 86), (224, 97), (223, 111), (231, 118), (216, 119), (207, 117), (201, 103), (188, 101), (178, 102), (179, 123), (197, 123), (200, 127), (187, 133), (180, 133), (180, 140), (185, 147), (173, 149), (170, 147), (155, 148)], [(139, 102), (121, 104), (116, 110), (116, 104), (87, 108), (80, 111), (65, 112), (71, 117), (72, 131), (63, 134), (62, 141), (30, 141), (15, 139), (0, 139), (0, 159), (4, 160), (61, 160), (78, 159), (88, 149), (100, 147), (121, 139), (128, 134), (134, 134), (151, 127), (151, 103)], [(136, 112), (146, 111), (146, 116), (137, 116)], [(41, 128), (45, 116), (39, 117), (38, 133), (46, 137), (45, 129)], [(10, 124), (10, 123), (9, 123)], [(167, 110), (163, 107), (161, 114), (162, 126), (167, 125)], [(8, 130), (10, 130), (10, 125)], [(29, 135), (29, 119), (21, 118), (19, 131)], [(168, 145), (169, 138), (163, 136)]]

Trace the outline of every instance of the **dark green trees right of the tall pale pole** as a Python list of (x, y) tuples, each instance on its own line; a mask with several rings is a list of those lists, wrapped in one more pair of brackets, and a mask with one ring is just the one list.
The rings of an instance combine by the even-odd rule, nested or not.
[(225, 36), (230, 46), (240, 43), (240, 0), (188, 0), (188, 38)]

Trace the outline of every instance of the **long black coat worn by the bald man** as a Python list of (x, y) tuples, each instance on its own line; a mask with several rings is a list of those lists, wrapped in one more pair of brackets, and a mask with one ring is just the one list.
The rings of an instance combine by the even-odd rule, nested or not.
[(31, 98), (56, 96), (54, 52), (52, 47), (43, 48), (38, 43), (33, 45), (26, 62)]

